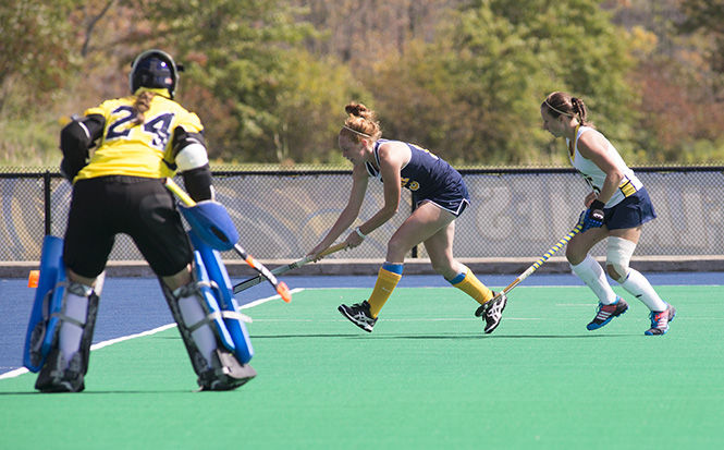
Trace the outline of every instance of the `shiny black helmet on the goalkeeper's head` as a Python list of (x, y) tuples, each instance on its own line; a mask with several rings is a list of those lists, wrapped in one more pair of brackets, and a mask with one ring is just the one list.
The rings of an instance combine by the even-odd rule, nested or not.
[(132, 94), (139, 87), (157, 87), (169, 89), (173, 98), (179, 81), (179, 69), (169, 53), (156, 49), (147, 50), (133, 61), (128, 81)]

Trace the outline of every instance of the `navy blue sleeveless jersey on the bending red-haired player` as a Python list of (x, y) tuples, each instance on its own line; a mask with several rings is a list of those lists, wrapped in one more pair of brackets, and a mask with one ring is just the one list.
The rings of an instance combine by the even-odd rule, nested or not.
[[(377, 167), (380, 167), (380, 145), (386, 142), (391, 141), (379, 139), (375, 143)], [(430, 200), (456, 216), (459, 215), (470, 199), (459, 172), (430, 151), (415, 144), (403, 144), (409, 147), (412, 156), (407, 165), (400, 171), (401, 183), (402, 187), (413, 193), (413, 202), (417, 205), (420, 202)], [(382, 177), (375, 166), (366, 162), (366, 167), (371, 177), (382, 181)]]

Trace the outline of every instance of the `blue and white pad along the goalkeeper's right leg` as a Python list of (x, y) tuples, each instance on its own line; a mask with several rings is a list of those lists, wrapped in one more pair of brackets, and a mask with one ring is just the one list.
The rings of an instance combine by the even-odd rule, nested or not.
[(246, 326), (241, 319), (226, 267), (221, 262), (219, 252), (207, 245), (195, 229), (191, 230), (188, 235), (194, 246), (196, 279), (216, 283), (201, 284), (201, 294), (212, 312), (221, 309), (221, 317), (214, 320), (221, 341), (242, 364), (247, 364), (254, 356), (254, 349)]

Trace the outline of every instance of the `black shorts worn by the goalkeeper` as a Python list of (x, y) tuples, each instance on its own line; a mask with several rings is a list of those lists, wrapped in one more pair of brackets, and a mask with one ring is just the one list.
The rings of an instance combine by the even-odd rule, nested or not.
[(133, 239), (154, 272), (168, 277), (192, 262), (188, 236), (163, 180), (99, 177), (73, 186), (63, 262), (94, 278), (106, 268), (115, 234)]

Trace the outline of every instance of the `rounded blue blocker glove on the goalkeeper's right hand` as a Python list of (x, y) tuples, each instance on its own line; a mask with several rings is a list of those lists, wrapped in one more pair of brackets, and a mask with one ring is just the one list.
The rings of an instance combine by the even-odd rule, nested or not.
[(219, 202), (204, 200), (194, 206), (180, 204), (179, 208), (198, 238), (211, 248), (225, 252), (238, 242), (236, 227)]

